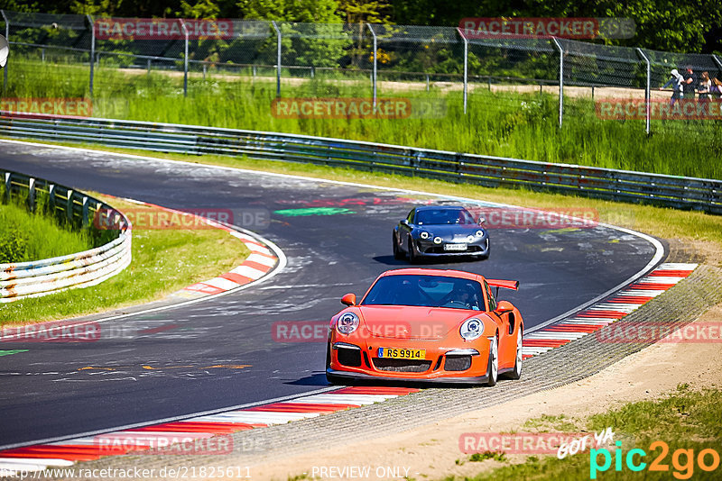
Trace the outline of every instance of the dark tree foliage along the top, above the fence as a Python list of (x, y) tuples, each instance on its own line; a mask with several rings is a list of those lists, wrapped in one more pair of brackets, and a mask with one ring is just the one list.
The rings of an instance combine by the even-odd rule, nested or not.
[(722, 7), (708, 0), (0, 0), (0, 9), (128, 17), (246, 18), (309, 23), (456, 26), (465, 17), (626, 17), (617, 45), (680, 52), (722, 49)]

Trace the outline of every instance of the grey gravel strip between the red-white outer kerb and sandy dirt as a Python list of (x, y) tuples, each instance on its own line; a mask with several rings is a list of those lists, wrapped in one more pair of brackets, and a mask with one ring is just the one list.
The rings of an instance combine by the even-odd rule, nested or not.
[[(696, 258), (686, 246), (672, 242), (667, 261), (684, 262)], [(694, 322), (702, 313), (722, 303), (722, 269), (700, 265), (679, 285), (644, 304), (612, 326), (638, 322), (665, 322), (683, 326)], [(607, 326), (605, 329), (610, 329)], [(604, 333), (604, 330), (598, 331)], [(310, 453), (320, 448), (341, 447), (363, 440), (374, 440), (410, 430), (432, 422), (504, 404), (513, 399), (593, 376), (617, 361), (638, 352), (652, 343), (600, 343), (597, 336), (570, 342), (525, 361), (519, 381), (504, 381), (492, 388), (430, 388), (412, 395), (400, 396), (381, 404), (368, 405), (343, 412), (322, 415), (300, 422), (268, 428), (240, 431), (233, 434), (234, 452), (217, 456), (115, 456), (76, 464), (83, 469), (139, 467), (160, 469), (171, 467), (250, 467), (281, 461), (291, 456)], [(460, 454), (460, 453), (459, 453)], [(245, 473), (245, 471), (243, 471)], [(168, 476), (166, 476), (168, 477)], [(105, 477), (109, 479), (112, 477)], [(62, 478), (58, 478), (62, 479)]]

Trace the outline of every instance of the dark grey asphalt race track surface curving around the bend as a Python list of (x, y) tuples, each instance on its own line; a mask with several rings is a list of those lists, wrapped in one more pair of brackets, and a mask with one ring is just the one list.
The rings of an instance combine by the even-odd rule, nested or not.
[[(3, 342), (2, 349), (29, 351), (0, 358), (0, 447), (327, 386), (323, 342), (276, 342), (272, 323), (327, 321), (342, 295), (362, 295), (379, 273), (406, 266), (391, 255), (393, 225), (432, 199), (3, 141), (0, 166), (172, 208), (269, 213), (268, 225), (245, 227), (288, 258), (279, 275), (245, 291), (103, 322), (106, 335), (96, 342)], [(624, 282), (655, 253), (649, 241), (600, 226), (495, 229), (491, 241), (486, 261), (428, 267), (519, 280), (518, 292), (500, 298), (519, 307), (527, 328)]]

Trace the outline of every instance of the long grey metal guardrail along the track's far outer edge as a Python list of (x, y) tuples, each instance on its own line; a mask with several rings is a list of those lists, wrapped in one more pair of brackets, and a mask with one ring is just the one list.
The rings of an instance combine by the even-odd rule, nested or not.
[(431, 177), (480, 186), (525, 187), (616, 201), (722, 213), (722, 181), (589, 168), (373, 142), (95, 118), (0, 112), (0, 134), (184, 154), (246, 155)]

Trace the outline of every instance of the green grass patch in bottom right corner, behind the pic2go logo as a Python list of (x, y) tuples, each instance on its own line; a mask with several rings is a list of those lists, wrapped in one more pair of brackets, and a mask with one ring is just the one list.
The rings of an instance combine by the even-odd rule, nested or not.
[[(678, 390), (666, 397), (655, 401), (642, 401), (638, 403), (625, 404), (619, 409), (610, 410), (581, 420), (580, 423), (588, 431), (599, 432), (607, 427), (617, 433), (616, 440), (622, 438), (622, 452), (630, 449), (643, 449), (647, 455), (643, 461), (649, 465), (654, 458), (661, 456), (661, 449), (650, 449), (654, 441), (664, 441), (669, 446), (669, 453), (662, 458), (662, 464), (666, 464), (669, 470), (666, 472), (653, 472), (644, 469), (641, 472), (634, 472), (625, 466), (623, 459), (622, 470), (615, 472), (614, 456), (615, 447), (611, 447), (612, 464), (606, 472), (597, 473), (597, 479), (719, 479), (720, 467), (711, 472), (706, 472), (696, 464), (699, 452), (703, 449), (715, 449), (720, 454), (722, 445), (722, 426), (719, 420), (722, 419), (722, 391), (708, 389), (703, 391), (690, 391), (685, 385), (680, 385)], [(541, 420), (544, 422), (544, 420)], [(678, 463), (675, 466), (675, 451), (678, 449), (692, 449), (695, 464), (689, 466), (684, 455), (678, 454)], [(501, 453), (483, 453), (479, 458), (495, 458), (504, 461)], [(473, 456), (473, 455), (472, 455)], [(597, 456), (601, 465), (603, 456)], [(471, 460), (471, 459), (469, 459)], [(635, 461), (639, 456), (635, 457)], [(711, 464), (711, 455), (707, 456), (706, 462)], [(676, 473), (676, 474), (675, 474)], [(474, 477), (467, 477), (474, 481), (516, 481), (525, 480), (553, 480), (553, 481), (577, 481), (589, 479), (590, 477), (590, 453), (589, 451), (579, 453), (567, 458), (558, 459), (555, 456), (538, 458), (530, 456), (522, 464), (515, 464), (505, 467), (490, 469)], [(457, 479), (453, 476), (446, 478), (447, 481)]]

